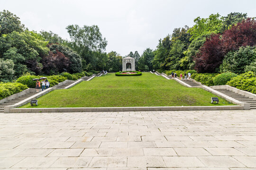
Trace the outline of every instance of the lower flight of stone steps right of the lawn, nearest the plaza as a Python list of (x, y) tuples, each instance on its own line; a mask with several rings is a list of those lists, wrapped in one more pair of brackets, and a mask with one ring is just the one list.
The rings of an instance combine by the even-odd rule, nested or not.
[(229, 97), (232, 97), (233, 99), (236, 99), (240, 102), (250, 103), (250, 108), (251, 109), (256, 109), (256, 99), (249, 98), (245, 95), (235, 93), (235, 92), (233, 92), (231, 90), (228, 90), (228, 89), (215, 89), (215, 90), (217, 90), (220, 93), (226, 94)]

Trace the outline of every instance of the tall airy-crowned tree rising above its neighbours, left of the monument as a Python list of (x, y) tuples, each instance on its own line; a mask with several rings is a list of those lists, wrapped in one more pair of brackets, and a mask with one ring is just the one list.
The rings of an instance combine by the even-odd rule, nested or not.
[(105, 51), (108, 42), (103, 38), (98, 26), (83, 26), (69, 25), (66, 27), (67, 32), (71, 38), (69, 46), (77, 51), (78, 54), (85, 60), (86, 63), (91, 63), (96, 67), (96, 59), (93, 56), (93, 51)]

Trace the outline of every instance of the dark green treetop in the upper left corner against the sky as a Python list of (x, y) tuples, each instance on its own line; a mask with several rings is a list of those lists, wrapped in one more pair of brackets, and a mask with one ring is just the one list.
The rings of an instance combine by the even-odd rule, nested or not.
[(22, 32), (23, 29), (24, 25), (19, 21), (19, 17), (8, 10), (0, 12), (0, 36), (2, 34), (10, 34), (13, 31)]

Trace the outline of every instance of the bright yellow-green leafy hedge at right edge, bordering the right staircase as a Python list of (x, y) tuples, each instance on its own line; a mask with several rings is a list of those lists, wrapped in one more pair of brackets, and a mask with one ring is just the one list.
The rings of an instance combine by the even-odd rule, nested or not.
[(256, 94), (256, 74), (252, 71), (233, 77), (227, 85)]

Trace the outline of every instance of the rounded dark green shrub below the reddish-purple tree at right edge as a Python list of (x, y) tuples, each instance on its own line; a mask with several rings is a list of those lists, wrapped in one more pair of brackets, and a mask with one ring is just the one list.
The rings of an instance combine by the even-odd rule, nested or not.
[(256, 47), (240, 47), (238, 51), (229, 51), (219, 67), (220, 72), (244, 73), (247, 65), (256, 59)]

